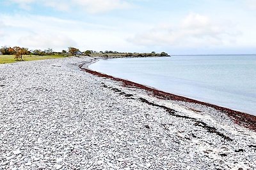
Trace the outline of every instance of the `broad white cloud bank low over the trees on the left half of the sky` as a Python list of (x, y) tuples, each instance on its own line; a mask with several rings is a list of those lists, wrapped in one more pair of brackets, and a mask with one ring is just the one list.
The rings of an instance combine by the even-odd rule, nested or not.
[(56, 51), (68, 46), (80, 50), (129, 51), (133, 46), (125, 40), (126, 32), (106, 25), (37, 15), (0, 14), (0, 18), (6, 25), (3, 33), (8, 34), (1, 38), (1, 43), (8, 46), (26, 46), (31, 50), (53, 48)]

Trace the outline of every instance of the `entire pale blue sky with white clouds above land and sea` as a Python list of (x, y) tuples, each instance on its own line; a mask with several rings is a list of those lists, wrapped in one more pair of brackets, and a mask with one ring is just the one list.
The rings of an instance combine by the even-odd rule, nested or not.
[(256, 53), (256, 0), (0, 0), (0, 46)]

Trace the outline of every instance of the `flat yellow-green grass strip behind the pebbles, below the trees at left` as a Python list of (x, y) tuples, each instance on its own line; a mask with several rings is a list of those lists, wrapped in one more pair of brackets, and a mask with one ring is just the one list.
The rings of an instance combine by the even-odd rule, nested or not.
[[(24, 61), (29, 60), (45, 60), (45, 59), (59, 59), (68, 57), (68, 55), (24, 55)], [(7, 64), (13, 62), (20, 62), (14, 59), (14, 55), (0, 55), (0, 64)]]

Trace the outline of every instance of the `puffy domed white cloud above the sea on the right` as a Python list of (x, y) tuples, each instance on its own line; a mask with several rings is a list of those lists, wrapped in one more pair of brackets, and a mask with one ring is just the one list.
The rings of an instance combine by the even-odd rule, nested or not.
[(213, 24), (210, 18), (190, 13), (177, 25), (162, 24), (129, 39), (138, 45), (220, 46), (236, 43), (237, 31), (228, 25)]

